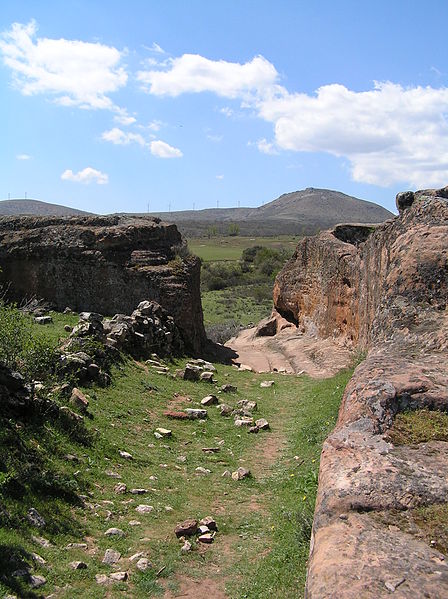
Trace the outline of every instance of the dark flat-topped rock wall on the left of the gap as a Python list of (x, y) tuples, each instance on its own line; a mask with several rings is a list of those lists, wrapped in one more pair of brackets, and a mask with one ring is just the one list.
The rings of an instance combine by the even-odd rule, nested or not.
[(206, 341), (200, 264), (180, 258), (182, 244), (175, 225), (150, 217), (5, 217), (1, 282), (12, 300), (37, 296), (58, 310), (113, 316), (154, 300), (198, 353)]

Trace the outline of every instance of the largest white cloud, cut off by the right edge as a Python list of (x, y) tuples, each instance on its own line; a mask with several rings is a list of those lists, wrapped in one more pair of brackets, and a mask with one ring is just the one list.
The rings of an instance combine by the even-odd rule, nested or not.
[(355, 181), (427, 187), (448, 179), (447, 105), (447, 88), (387, 82), (366, 92), (338, 84), (313, 96), (285, 90), (257, 109), (281, 149), (347, 158)]

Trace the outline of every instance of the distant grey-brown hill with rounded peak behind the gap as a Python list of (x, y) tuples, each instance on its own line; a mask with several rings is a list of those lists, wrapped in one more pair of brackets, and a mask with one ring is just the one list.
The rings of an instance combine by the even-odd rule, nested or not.
[(393, 214), (339, 191), (308, 187), (258, 208), (207, 208), (153, 216), (175, 222), (187, 237), (198, 237), (213, 226), (225, 233), (231, 223), (238, 224), (241, 235), (309, 234), (338, 223), (380, 223)]

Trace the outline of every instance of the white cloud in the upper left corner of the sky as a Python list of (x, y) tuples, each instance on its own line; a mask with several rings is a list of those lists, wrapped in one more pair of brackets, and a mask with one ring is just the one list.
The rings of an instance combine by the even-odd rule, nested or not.
[(109, 94), (127, 82), (123, 54), (112, 46), (36, 38), (37, 24), (14, 23), (0, 38), (3, 61), (24, 95), (49, 94), (63, 106), (120, 111)]

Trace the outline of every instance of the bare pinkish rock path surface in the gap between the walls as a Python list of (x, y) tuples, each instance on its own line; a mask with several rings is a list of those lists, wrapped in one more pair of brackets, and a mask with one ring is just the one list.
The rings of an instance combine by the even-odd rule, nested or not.
[(287, 328), (274, 337), (256, 337), (256, 328), (241, 331), (226, 346), (237, 352), (236, 363), (255, 372), (288, 372), (329, 378), (350, 365), (352, 353), (330, 339), (315, 339)]

